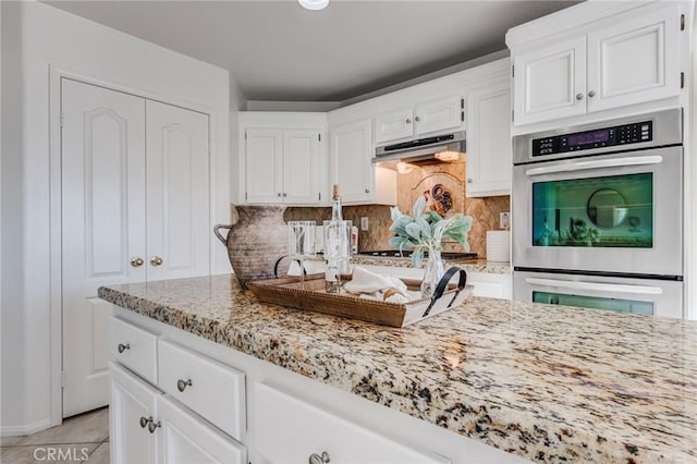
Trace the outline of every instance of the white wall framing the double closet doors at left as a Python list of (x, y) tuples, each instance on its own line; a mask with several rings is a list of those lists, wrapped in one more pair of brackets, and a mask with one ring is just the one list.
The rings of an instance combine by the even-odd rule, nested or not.
[[(5, 8), (5, 2), (2, 3)], [(2, 210), (2, 283), (3, 290), (11, 286), (21, 294), (5, 297), (3, 291), (2, 334), (12, 333), (15, 339), (23, 340), (11, 350), (5, 350), (4, 337), (2, 341), (2, 432), (5, 435), (22, 427), (42, 427), (51, 411), (56, 412), (56, 401), (51, 404), (50, 358), (56, 340), (51, 340), (50, 331), (48, 259), (51, 225), (49, 64), (136, 94), (209, 109), (217, 187), (212, 222), (229, 220), (230, 203), (228, 71), (42, 3), (20, 2), (9, 7), (10, 10), (19, 11), (13, 11), (14, 19), (3, 14), (3, 25), (19, 26), (12, 40), (21, 40), (22, 46), (23, 88), (21, 102), (17, 102), (22, 146), (7, 163), (3, 154), (2, 197), (7, 198), (8, 191), (14, 197), (12, 208), (5, 211), (3, 204)], [(4, 46), (4, 36), (2, 42)], [(4, 53), (2, 59), (5, 60)], [(3, 69), (5, 66), (7, 62)], [(14, 124), (16, 127), (20, 122)], [(4, 144), (3, 137), (3, 152)], [(8, 219), (13, 220), (9, 222)], [(215, 251), (213, 270), (229, 272), (224, 249), (215, 247)], [(8, 274), (8, 267), (12, 276)], [(11, 306), (7, 312), (5, 301)], [(21, 366), (26, 366), (24, 373)]]

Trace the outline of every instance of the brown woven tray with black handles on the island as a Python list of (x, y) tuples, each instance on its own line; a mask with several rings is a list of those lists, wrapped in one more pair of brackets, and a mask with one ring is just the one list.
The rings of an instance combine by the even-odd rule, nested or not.
[[(448, 276), (448, 279), (452, 276)], [(404, 304), (359, 298), (343, 291), (340, 294), (329, 294), (325, 292), (323, 273), (306, 276), (304, 286), (298, 277), (259, 280), (247, 285), (264, 303), (359, 319), (380, 326), (405, 327), (462, 304), (474, 289), (473, 285), (464, 284), (465, 279), (466, 277), (461, 279), (462, 290), (458, 290), (457, 284), (451, 283), (440, 297), (420, 298)], [(402, 281), (409, 290), (416, 291), (421, 283), (412, 279)]]

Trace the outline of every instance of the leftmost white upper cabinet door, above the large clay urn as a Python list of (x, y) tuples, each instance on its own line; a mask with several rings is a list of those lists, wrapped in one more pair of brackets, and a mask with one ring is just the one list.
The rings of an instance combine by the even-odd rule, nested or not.
[(283, 131), (248, 129), (245, 133), (247, 203), (283, 200)]

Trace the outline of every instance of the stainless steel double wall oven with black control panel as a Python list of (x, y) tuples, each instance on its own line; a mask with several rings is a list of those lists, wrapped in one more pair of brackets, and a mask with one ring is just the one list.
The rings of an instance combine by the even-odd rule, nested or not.
[(683, 316), (678, 109), (513, 141), (513, 296)]

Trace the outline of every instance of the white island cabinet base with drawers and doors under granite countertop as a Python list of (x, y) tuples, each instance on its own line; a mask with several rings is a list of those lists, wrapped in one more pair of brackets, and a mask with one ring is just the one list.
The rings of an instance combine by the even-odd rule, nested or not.
[(109, 364), (112, 464), (524, 462), (126, 309), (114, 316), (119, 334), (157, 338), (158, 380)]

